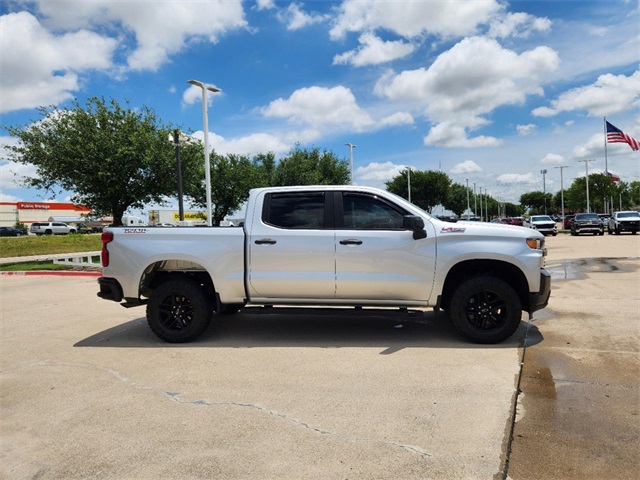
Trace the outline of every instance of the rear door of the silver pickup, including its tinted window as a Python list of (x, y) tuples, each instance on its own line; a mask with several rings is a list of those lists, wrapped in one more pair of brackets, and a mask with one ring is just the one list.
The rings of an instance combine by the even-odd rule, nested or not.
[[(335, 295), (333, 198), (323, 191), (264, 194), (247, 236), (247, 288), (256, 299)], [(258, 199), (259, 200), (259, 199)]]

